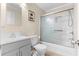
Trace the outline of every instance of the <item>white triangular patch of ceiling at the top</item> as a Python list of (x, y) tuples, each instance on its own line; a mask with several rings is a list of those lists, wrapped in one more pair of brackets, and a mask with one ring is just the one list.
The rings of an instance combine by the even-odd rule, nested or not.
[(42, 10), (48, 11), (66, 3), (36, 3)]

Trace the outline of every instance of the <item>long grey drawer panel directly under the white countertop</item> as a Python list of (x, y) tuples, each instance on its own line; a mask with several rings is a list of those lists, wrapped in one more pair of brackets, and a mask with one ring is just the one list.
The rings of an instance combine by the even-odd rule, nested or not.
[(21, 41), (17, 41), (17, 42), (2, 45), (1, 46), (1, 51), (2, 51), (2, 53), (7, 53), (11, 50), (20, 48), (24, 45), (31, 45), (30, 39), (21, 40)]

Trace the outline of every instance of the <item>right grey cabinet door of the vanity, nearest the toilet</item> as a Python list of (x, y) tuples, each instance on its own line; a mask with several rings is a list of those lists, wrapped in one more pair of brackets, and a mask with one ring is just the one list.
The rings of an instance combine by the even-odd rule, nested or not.
[(27, 45), (20, 48), (20, 55), (21, 56), (31, 56), (31, 46)]

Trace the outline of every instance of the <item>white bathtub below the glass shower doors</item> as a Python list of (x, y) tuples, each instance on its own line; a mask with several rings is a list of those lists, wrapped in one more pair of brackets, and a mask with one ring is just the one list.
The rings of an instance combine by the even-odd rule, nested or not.
[(65, 46), (52, 44), (48, 42), (42, 42), (42, 44), (46, 45), (47, 49), (50, 50), (51, 52), (54, 51), (63, 56), (76, 56), (77, 55), (76, 48), (65, 47)]

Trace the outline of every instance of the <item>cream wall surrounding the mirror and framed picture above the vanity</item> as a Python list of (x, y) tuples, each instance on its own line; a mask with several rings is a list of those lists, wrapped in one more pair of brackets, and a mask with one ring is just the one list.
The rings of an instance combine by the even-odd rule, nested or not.
[[(40, 35), (39, 22), (40, 16), (44, 13), (37, 5), (35, 4), (22, 4), (22, 24), (17, 25), (5, 25), (6, 23), (6, 4), (1, 4), (1, 28), (6, 32), (21, 32), (24, 35), (37, 34)], [(28, 21), (28, 10), (33, 10), (35, 12), (35, 22)]]

